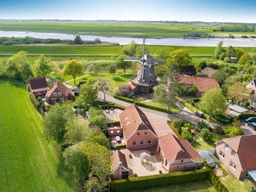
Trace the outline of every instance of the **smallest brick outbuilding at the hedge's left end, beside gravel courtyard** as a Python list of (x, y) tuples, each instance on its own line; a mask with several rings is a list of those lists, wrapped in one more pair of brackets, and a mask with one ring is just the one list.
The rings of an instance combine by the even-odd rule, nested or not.
[(126, 179), (129, 177), (129, 167), (122, 150), (116, 150), (112, 154), (111, 179)]

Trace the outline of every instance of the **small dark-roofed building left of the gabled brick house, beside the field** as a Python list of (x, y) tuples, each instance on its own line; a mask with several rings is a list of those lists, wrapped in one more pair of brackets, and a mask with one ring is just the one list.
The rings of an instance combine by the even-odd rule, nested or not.
[(45, 77), (30, 79), (29, 89), (36, 96), (42, 96), (42, 97), (45, 97), (48, 90), (50, 90)]

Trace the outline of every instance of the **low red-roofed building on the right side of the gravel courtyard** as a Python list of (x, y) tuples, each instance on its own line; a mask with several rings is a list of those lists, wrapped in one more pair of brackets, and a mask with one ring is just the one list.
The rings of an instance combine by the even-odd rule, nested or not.
[(203, 159), (191, 144), (186, 139), (177, 138), (171, 133), (158, 139), (157, 151), (163, 160), (163, 167), (168, 172), (182, 172), (203, 167)]

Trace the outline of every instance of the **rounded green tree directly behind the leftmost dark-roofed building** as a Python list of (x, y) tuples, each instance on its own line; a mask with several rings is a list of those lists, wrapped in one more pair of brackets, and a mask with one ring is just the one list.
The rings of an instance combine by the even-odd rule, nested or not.
[(41, 55), (35, 63), (35, 75), (37, 77), (45, 77), (48, 73), (51, 73), (52, 66), (48, 59)]

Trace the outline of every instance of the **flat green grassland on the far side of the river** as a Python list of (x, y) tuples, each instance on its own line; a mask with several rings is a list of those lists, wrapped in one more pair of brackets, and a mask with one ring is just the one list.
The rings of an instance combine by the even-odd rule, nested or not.
[[(202, 30), (203, 29), (203, 30)], [(108, 24), (108, 23), (0, 23), (0, 30), (38, 31), (58, 33), (86, 33), (98, 35), (124, 36), (159, 36), (183, 37), (184, 33), (200, 32), (207, 34), (225, 34), (228, 32), (213, 32), (215, 26), (188, 24)], [(232, 32), (234, 34), (256, 34), (256, 32)]]

